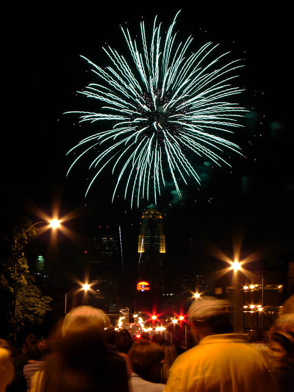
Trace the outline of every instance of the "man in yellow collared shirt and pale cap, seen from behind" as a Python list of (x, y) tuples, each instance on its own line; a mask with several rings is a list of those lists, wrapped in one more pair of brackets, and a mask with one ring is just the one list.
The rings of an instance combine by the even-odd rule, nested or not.
[(195, 299), (188, 320), (198, 345), (174, 362), (164, 392), (275, 391), (262, 356), (230, 333), (227, 302)]

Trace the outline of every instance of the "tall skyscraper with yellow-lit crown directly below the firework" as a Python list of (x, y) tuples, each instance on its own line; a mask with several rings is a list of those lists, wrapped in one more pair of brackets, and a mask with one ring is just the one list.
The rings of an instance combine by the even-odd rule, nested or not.
[(138, 240), (139, 282), (150, 284), (152, 291), (164, 291), (166, 236), (162, 215), (149, 208), (142, 215)]

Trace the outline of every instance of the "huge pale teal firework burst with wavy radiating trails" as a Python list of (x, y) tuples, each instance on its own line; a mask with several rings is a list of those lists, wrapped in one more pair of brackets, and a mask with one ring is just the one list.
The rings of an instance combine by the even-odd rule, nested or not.
[(115, 169), (119, 173), (113, 199), (126, 178), (124, 198), (130, 190), (131, 206), (136, 197), (138, 207), (144, 198), (156, 204), (167, 177), (173, 180), (181, 198), (180, 183), (188, 184), (189, 178), (200, 183), (188, 152), (209, 158), (219, 166), (228, 165), (220, 156), (223, 148), (240, 153), (240, 148), (221, 134), (242, 126), (238, 119), (246, 110), (225, 101), (243, 91), (230, 84), (236, 78), (232, 73), (242, 66), (239, 60), (218, 66), (227, 53), (208, 60), (218, 46), (211, 42), (196, 53), (187, 53), (192, 38), (176, 44), (176, 17), (165, 38), (155, 18), (149, 45), (145, 24), (141, 22), (142, 52), (128, 29), (121, 27), (133, 63), (110, 47), (104, 48), (111, 60), (111, 66), (105, 70), (81, 56), (92, 66), (101, 84), (92, 83), (80, 93), (107, 106), (102, 107), (101, 113), (68, 113), (79, 113), (80, 122), (111, 124), (69, 151), (90, 144), (75, 159), (70, 171), (89, 150), (96, 146), (102, 149), (90, 165), (97, 172), (86, 194), (101, 171), (112, 165), (112, 173)]

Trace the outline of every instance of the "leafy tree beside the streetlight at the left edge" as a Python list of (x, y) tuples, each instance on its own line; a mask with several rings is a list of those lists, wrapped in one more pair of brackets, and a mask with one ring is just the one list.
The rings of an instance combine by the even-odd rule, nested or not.
[(14, 300), (16, 302), (16, 328), (26, 324), (41, 324), (50, 310), (50, 297), (42, 296), (29, 275), (24, 247), (29, 237), (36, 234), (28, 217), (13, 210), (0, 214), (0, 335), (13, 335)]

